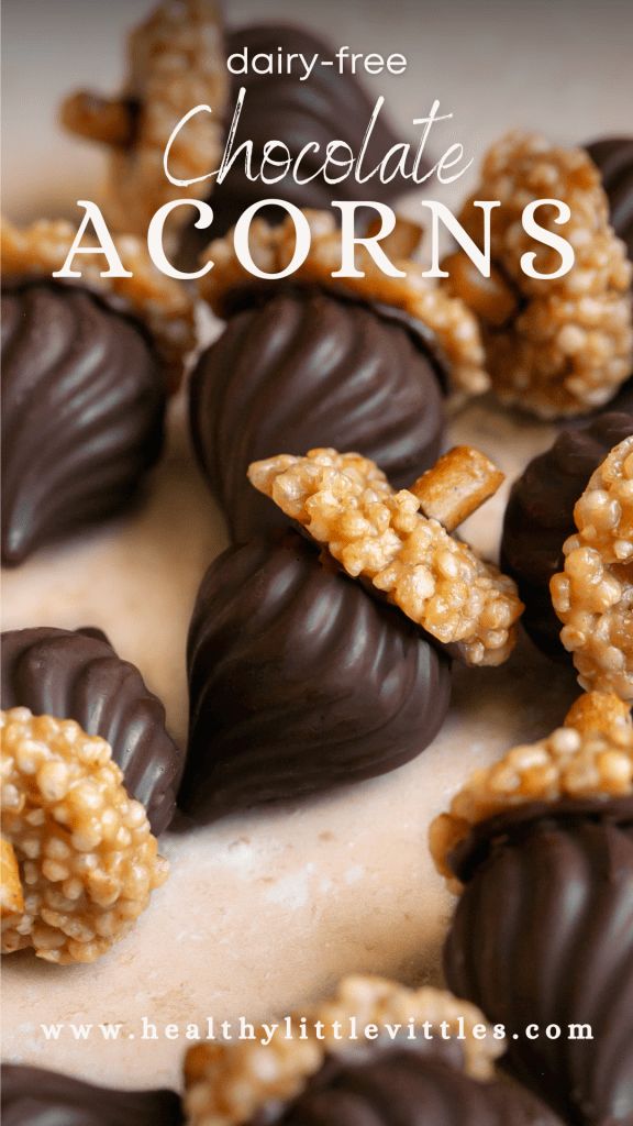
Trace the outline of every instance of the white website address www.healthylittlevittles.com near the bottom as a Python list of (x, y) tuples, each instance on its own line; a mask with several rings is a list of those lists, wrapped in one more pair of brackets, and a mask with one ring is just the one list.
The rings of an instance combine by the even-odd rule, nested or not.
[(274, 1040), (309, 1040), (318, 1039), (323, 1042), (336, 1040), (348, 1043), (355, 1048), (376, 1040), (385, 1044), (424, 1044), (433, 1040), (467, 1040), (472, 1037), (476, 1040), (505, 1040), (507, 1038), (519, 1039), (524, 1037), (528, 1040), (592, 1040), (594, 1033), (591, 1025), (527, 1025), (521, 1033), (508, 1031), (505, 1025), (472, 1025), (465, 1017), (457, 1017), (453, 1021), (442, 1020), (416, 1020), (383, 1024), (366, 1022), (358, 1017), (348, 1017), (345, 1020), (333, 1020), (326, 1024), (323, 1020), (312, 1020), (307, 1017), (286, 1016), (269, 1024), (253, 1025), (246, 1017), (238, 1017), (235, 1020), (217, 1020), (215, 1017), (206, 1017), (202, 1021), (190, 1021), (186, 1024), (163, 1024), (151, 1020), (149, 1017), (141, 1017), (140, 1021), (131, 1027), (123, 1022), (83, 1024), (75, 1021), (61, 1021), (57, 1024), (41, 1024), (39, 1031), (45, 1040), (188, 1040), (188, 1042), (220, 1042), (232, 1043), (234, 1040), (252, 1040), (267, 1047)]

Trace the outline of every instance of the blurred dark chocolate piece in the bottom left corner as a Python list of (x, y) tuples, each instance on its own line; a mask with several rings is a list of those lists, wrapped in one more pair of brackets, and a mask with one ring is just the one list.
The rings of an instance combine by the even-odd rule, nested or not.
[(173, 1091), (117, 1091), (41, 1067), (2, 1064), (2, 1126), (181, 1126)]

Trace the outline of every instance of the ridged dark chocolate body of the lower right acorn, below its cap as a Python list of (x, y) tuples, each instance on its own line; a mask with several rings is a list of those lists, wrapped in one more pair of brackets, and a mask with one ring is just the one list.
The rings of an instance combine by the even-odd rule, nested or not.
[[(508, 1065), (569, 1126), (630, 1126), (631, 804), (621, 823), (551, 815), (507, 826), (458, 902), (445, 972), (458, 997), (506, 1026)], [(531, 1025), (541, 1038), (526, 1037)], [(561, 1026), (559, 1039), (543, 1035), (549, 1025)], [(592, 1038), (570, 1039), (570, 1025), (589, 1025)]]

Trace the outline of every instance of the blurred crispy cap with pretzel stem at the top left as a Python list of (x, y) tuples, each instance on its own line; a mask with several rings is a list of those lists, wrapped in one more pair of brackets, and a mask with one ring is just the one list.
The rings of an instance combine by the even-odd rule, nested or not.
[[(162, 0), (127, 41), (126, 74), (118, 93), (102, 97), (80, 90), (65, 98), (63, 125), (101, 144), (108, 155), (105, 208), (118, 231), (146, 235), (159, 207), (176, 199), (198, 199), (205, 179), (222, 154), (223, 118), (229, 81), (223, 28), (216, 0)], [(176, 126), (196, 106), (211, 113), (189, 118), (166, 149)], [(191, 216), (178, 207), (168, 217), (166, 242), (176, 245)]]

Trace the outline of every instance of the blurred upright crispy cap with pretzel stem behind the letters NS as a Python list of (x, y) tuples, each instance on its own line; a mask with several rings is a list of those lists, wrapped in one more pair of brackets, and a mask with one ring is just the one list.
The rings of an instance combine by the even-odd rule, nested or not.
[[(458, 251), (444, 263), (451, 275), (445, 287), (480, 319), (496, 394), (543, 418), (604, 405), (633, 366), (633, 268), (609, 224), (598, 169), (583, 149), (512, 132), (488, 152), (481, 182), (460, 215), (481, 244), (475, 199), (501, 203), (491, 215), (491, 278), (482, 278)], [(560, 199), (571, 209), (563, 225), (554, 223), (553, 208), (542, 206), (535, 216), (576, 252), (572, 269), (554, 280), (529, 278), (520, 266), (526, 252), (536, 252), (542, 272), (560, 266), (558, 251), (523, 229), (523, 209), (535, 199)]]

